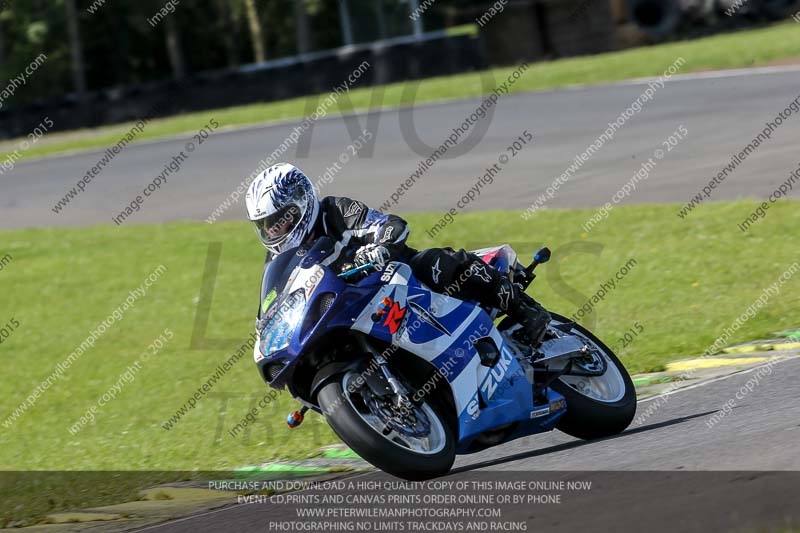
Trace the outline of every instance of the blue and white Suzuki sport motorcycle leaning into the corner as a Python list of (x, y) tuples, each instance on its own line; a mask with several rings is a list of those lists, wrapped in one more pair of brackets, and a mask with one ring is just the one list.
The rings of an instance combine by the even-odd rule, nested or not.
[[(446, 474), (472, 453), (554, 428), (582, 439), (622, 432), (636, 411), (628, 372), (591, 332), (552, 314), (544, 341), (520, 339), (498, 311), (438, 294), (408, 265), (343, 273), (321, 263), (323, 237), (264, 272), (255, 359), (270, 387), (325, 416), (358, 455), (395, 476)], [(508, 245), (475, 251), (527, 287), (543, 248), (522, 266)]]

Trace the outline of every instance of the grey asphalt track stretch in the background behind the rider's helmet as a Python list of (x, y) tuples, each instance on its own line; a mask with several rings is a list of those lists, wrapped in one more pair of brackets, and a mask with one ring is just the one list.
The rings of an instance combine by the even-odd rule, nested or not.
[[(799, 86), (800, 70), (788, 67), (675, 78), (546, 205), (606, 203), (681, 125), (688, 130), (687, 139), (666, 154), (625, 202), (687, 202), (797, 97)], [(437, 162), (390, 210), (453, 207), (524, 130), (534, 135), (533, 145), (512, 159), (468, 209), (528, 207), (646, 88), (646, 82), (631, 82), (501, 98), (494, 115), (481, 122), (489, 127), (477, 145), (459, 157)], [(374, 151), (362, 151), (362, 159), (340, 165), (322, 194), (350, 195), (378, 207), (424, 159), (409, 148), (403, 131), (439, 145), (478, 102), (418, 106), (413, 117), (410, 108), (376, 111), (377, 122), (370, 124), (364, 116), (357, 117), (358, 124), (351, 120), (352, 137), (345, 120), (331, 116), (315, 125), (303, 157), (296, 157), (293, 146), (284, 159), (296, 162), (317, 181), (369, 125)], [(401, 117), (413, 118), (415, 127), (401, 128)], [(187, 154), (180, 171), (167, 177), (167, 183), (126, 223), (205, 220), (294, 126), (217, 130)], [(798, 137), (800, 118), (794, 115), (717, 187), (712, 199), (766, 198), (798, 167)], [(126, 148), (59, 214), (51, 208), (97, 164), (103, 151), (20, 163), (0, 176), (0, 228), (110, 224), (174, 156), (186, 153), (187, 141), (191, 136)], [(221, 220), (241, 218), (242, 204), (227, 210)]]

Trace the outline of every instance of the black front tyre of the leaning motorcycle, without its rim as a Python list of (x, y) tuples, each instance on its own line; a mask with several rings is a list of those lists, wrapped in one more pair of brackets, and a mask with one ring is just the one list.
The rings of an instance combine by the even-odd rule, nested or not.
[(317, 396), (322, 411), (327, 413), (325, 418), (328, 424), (345, 444), (374, 466), (403, 479), (425, 480), (450, 471), (455, 461), (456, 442), (444, 417), (437, 412), (437, 406), (423, 402), (430, 409), (427, 412), (433, 413), (437, 419), (441, 449), (435, 453), (417, 453), (389, 440), (366, 422), (353, 402), (345, 396), (345, 376), (337, 376)]

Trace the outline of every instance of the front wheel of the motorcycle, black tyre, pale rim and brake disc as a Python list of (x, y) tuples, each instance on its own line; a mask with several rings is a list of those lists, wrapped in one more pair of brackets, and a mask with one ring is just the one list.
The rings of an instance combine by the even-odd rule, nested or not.
[(455, 437), (437, 407), (423, 399), (398, 408), (393, 398), (379, 398), (368, 387), (357, 387), (358, 376), (349, 371), (317, 396), (339, 438), (371, 464), (403, 479), (430, 479), (450, 471)]

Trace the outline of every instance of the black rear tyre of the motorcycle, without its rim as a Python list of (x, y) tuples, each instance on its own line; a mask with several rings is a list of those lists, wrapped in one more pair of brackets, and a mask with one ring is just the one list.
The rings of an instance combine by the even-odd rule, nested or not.
[[(552, 316), (558, 322), (569, 322), (569, 319), (560, 315)], [(567, 400), (567, 412), (558, 421), (556, 428), (567, 435), (586, 440), (622, 433), (636, 414), (636, 389), (633, 381), (614, 352), (591, 331), (575, 324), (573, 332), (580, 333), (603, 351), (609, 366), (606, 372), (611, 371), (611, 365), (614, 365), (622, 378), (625, 391), (619, 400), (603, 402), (586, 396), (561, 379), (556, 380), (550, 386)]]

